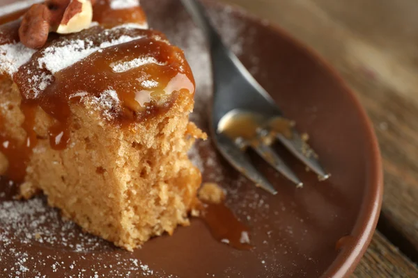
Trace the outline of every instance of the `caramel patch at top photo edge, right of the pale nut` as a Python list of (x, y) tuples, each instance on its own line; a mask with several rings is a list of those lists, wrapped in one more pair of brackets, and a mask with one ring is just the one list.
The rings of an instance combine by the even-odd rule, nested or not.
[(93, 22), (102, 26), (112, 27), (123, 23), (146, 24), (146, 15), (141, 7), (114, 10), (110, 7), (111, 0), (98, 0), (93, 11)]

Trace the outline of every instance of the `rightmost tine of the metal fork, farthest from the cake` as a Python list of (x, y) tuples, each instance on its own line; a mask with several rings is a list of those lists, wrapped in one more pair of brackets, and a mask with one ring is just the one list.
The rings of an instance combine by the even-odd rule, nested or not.
[(281, 133), (277, 133), (276, 137), (289, 151), (299, 158), (300, 161), (307, 165), (309, 169), (318, 174), (321, 181), (331, 177), (331, 175), (325, 172), (323, 167), (320, 165), (314, 151), (307, 145), (306, 142), (304, 142), (304, 140), (302, 140), (302, 137), (299, 133), (297, 133), (297, 131), (295, 131), (295, 129), (292, 129), (292, 136), (290, 138), (287, 138)]

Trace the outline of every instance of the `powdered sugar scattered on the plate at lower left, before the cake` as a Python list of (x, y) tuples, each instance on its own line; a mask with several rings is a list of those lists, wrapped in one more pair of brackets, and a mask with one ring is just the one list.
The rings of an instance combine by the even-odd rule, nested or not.
[[(15, 185), (9, 183), (9, 186)], [(107, 269), (107, 277), (130, 276), (127, 273), (141, 277), (174, 277), (153, 270), (130, 252), (115, 253), (113, 262), (104, 259), (103, 252), (114, 247), (85, 234), (73, 222), (63, 220), (59, 211), (47, 206), (43, 197), (27, 201), (1, 199), (0, 223), (0, 277), (51, 277), (45, 275), (50, 271), (67, 273), (62, 277), (103, 277), (99, 274), (102, 269)], [(34, 254), (30, 248), (34, 245), (46, 247), (45, 252), (42, 249)], [(56, 248), (65, 255), (49, 251)], [(8, 263), (10, 261), (14, 263)], [(5, 268), (3, 265), (14, 266)]]

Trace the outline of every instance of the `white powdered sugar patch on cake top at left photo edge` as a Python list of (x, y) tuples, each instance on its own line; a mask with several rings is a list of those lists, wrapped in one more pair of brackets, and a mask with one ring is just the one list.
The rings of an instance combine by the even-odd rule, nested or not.
[(0, 74), (12, 76), (35, 52), (20, 42), (0, 45)]

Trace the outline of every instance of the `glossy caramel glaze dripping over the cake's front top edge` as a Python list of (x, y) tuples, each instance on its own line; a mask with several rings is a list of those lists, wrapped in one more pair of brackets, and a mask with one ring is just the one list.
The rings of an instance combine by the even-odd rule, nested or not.
[[(105, 33), (106, 36), (104, 36)], [(40, 87), (37, 82), (42, 82), (41, 79), (31, 83), (27, 80), (33, 75), (51, 74), (39, 68), (45, 49), (35, 54), (32, 60), (15, 74), (15, 83), (23, 96), (22, 103), (34, 102), (57, 120), (57, 123), (49, 129), (49, 141), (54, 149), (65, 149), (67, 145), (70, 131), (68, 122), (71, 113), (70, 102), (79, 100), (79, 97), (72, 97), (77, 92), (86, 92), (88, 95), (100, 97), (102, 92), (114, 90), (121, 101), (121, 107), (116, 107), (113, 111), (114, 119), (118, 124), (138, 122), (145, 117), (152, 116), (153, 113), (150, 111), (155, 111), (153, 107), (169, 102), (169, 97), (174, 96), (172, 92), (185, 90), (181, 86), (185, 82), (182, 82), (177, 88), (171, 87), (171, 91), (165, 94), (170, 81), (178, 76), (187, 79), (191, 84), (188, 93), (194, 92), (194, 79), (185, 63), (183, 53), (162, 40), (162, 35), (155, 31), (123, 28), (106, 30), (95, 27), (85, 33), (72, 35), (72, 38), (56, 40), (49, 44), (49, 47), (58, 47), (65, 45), (66, 42), (86, 38), (92, 42), (92, 46), (98, 46), (104, 42), (103, 37), (109, 40), (109, 38), (120, 38), (121, 35), (141, 38), (102, 49), (100, 52), (96, 51), (74, 65), (56, 72), (53, 76), (54, 81), (43, 92), (36, 91)], [(153, 58), (156, 63), (146, 63), (123, 72), (112, 70), (112, 67), (117, 65), (132, 63), (135, 58)], [(141, 80), (144, 78), (152, 79), (157, 85), (152, 89), (144, 87), (141, 85)], [(147, 95), (150, 96), (150, 101), (143, 107), (137, 99), (146, 99)]]

